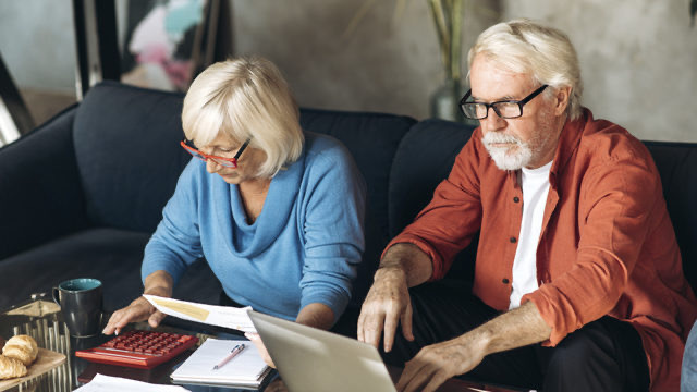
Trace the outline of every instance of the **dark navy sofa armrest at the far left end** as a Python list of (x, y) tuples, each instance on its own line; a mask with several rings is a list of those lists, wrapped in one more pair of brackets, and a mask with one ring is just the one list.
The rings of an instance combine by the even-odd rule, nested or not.
[(0, 149), (0, 259), (87, 226), (75, 109)]

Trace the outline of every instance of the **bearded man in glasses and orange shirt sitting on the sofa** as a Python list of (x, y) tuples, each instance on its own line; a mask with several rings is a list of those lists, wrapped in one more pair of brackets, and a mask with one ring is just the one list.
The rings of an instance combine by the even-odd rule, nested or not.
[[(677, 391), (697, 306), (649, 152), (580, 107), (563, 33), (498, 24), (468, 61), (461, 105), (480, 127), (388, 245), (358, 339), (411, 358), (400, 391), (465, 373), (545, 392)], [(472, 291), (421, 284), (477, 232)]]

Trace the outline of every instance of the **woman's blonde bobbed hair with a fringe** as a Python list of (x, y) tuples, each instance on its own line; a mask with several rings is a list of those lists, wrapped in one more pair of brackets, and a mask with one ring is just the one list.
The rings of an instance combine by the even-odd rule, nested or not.
[(272, 177), (299, 157), (299, 110), (279, 69), (260, 57), (215, 63), (192, 83), (184, 98), (182, 126), (199, 146), (223, 133), (266, 154), (257, 175)]

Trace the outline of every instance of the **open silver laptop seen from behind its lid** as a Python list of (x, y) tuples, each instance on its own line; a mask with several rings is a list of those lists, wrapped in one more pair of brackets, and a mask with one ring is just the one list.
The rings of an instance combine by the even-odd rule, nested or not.
[(254, 310), (248, 314), (290, 392), (396, 391), (376, 347)]

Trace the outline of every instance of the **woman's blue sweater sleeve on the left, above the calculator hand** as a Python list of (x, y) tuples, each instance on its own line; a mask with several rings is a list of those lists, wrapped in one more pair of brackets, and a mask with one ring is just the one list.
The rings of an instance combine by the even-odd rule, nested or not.
[(140, 269), (144, 282), (150, 273), (164, 270), (176, 284), (186, 268), (203, 257), (197, 218), (199, 167), (196, 160), (186, 166), (162, 210), (162, 220), (145, 247)]

